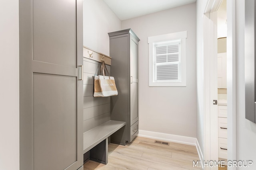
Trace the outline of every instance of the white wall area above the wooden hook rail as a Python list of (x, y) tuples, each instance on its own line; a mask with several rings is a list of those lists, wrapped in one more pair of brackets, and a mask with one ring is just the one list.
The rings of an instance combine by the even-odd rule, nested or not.
[(84, 46), (109, 55), (108, 33), (121, 29), (121, 21), (103, 0), (83, 0)]

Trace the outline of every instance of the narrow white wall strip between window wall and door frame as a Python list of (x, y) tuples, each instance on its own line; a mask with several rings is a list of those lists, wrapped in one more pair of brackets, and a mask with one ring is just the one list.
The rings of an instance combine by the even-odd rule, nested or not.
[(203, 15), (206, 6), (206, 0), (196, 1), (196, 104), (197, 104), (197, 135), (200, 149), (204, 156), (205, 146), (205, 125), (204, 125), (204, 49), (203, 49)]

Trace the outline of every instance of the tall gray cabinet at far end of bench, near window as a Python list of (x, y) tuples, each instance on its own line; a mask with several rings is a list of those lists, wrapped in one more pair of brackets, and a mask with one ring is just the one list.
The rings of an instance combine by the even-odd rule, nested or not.
[(125, 121), (126, 126), (113, 134), (112, 143), (126, 145), (138, 134), (138, 42), (132, 29), (108, 33), (111, 76), (118, 96), (111, 96), (111, 120)]

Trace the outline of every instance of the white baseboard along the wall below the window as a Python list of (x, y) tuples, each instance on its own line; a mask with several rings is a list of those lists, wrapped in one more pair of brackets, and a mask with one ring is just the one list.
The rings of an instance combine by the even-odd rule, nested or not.
[(158, 133), (158, 132), (150, 132), (150, 131), (142, 131), (142, 130), (139, 130), (138, 136), (176, 142), (176, 143), (183, 143), (187, 145), (196, 145), (196, 138), (194, 137), (185, 137), (185, 136), (179, 136), (179, 135), (171, 135), (166, 133)]

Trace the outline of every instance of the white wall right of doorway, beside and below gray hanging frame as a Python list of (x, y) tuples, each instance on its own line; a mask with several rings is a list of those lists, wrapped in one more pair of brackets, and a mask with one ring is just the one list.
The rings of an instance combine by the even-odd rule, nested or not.
[(256, 169), (256, 124), (245, 119), (245, 82), (244, 82), (244, 0), (236, 1), (236, 52), (237, 52), (237, 160), (252, 160), (250, 168)]

